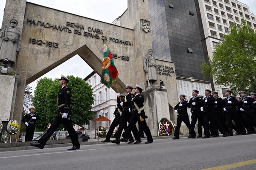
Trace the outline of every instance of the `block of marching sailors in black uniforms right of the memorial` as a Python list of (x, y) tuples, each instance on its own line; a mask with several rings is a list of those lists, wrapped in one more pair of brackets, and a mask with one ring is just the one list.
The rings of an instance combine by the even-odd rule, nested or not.
[[(221, 99), (218, 92), (209, 88), (205, 88), (205, 97), (198, 96), (198, 93), (198, 90), (193, 89), (189, 102), (185, 95), (180, 94), (180, 102), (175, 106), (177, 127), (172, 139), (180, 139), (181, 122), (184, 122), (189, 129), (188, 138), (219, 136), (218, 130), (223, 137), (233, 136), (233, 130), (236, 130), (236, 135), (256, 133), (256, 93), (251, 92), (250, 96), (247, 96), (246, 91), (239, 91), (240, 96), (234, 97), (232, 91), (226, 90), (225, 99)], [(191, 124), (188, 121), (187, 108), (192, 113)], [(198, 136), (195, 135), (194, 130), (197, 120)], [(204, 127), (204, 136), (201, 126)]]

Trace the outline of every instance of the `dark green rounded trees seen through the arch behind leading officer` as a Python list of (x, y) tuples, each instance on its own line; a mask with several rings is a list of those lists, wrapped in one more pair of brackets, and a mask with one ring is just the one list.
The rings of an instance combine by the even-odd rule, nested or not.
[[(70, 79), (67, 86), (72, 91), (71, 119), (80, 125), (89, 124), (89, 120), (93, 119), (91, 108), (94, 101), (91, 86), (79, 77), (67, 76), (67, 78)], [(45, 130), (58, 111), (57, 96), (61, 89), (58, 82), (59, 79), (53, 81), (46, 77), (37, 82), (34, 105), (42, 118), (38, 121), (37, 130)]]

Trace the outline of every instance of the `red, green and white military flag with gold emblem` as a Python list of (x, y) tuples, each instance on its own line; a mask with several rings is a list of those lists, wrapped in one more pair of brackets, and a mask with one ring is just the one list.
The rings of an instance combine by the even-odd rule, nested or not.
[(103, 39), (103, 62), (102, 62), (102, 76), (101, 83), (106, 85), (108, 88), (111, 87), (112, 83), (118, 76), (118, 71), (114, 64), (114, 59), (108, 48), (108, 44), (105, 39)]

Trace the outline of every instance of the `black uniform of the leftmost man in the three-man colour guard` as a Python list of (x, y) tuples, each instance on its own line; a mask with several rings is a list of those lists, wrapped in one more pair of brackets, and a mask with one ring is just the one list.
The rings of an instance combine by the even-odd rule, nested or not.
[[(119, 97), (117, 97), (116, 102), (120, 103)], [(122, 112), (123, 112), (122, 106), (118, 107), (118, 105), (116, 105), (116, 110), (114, 111), (115, 119), (113, 119), (113, 122), (111, 123), (111, 125), (109, 127), (108, 133), (106, 134), (106, 139), (105, 140), (107, 142), (110, 141), (110, 138), (111, 138), (111, 135), (112, 135), (113, 131), (115, 130), (116, 126), (119, 125)], [(124, 125), (123, 128), (126, 129), (127, 125)]]

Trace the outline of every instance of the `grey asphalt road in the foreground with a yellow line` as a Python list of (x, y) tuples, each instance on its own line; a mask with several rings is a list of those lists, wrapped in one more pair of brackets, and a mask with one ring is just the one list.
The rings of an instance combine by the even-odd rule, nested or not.
[(0, 170), (256, 170), (256, 134), (144, 142), (1, 152)]

